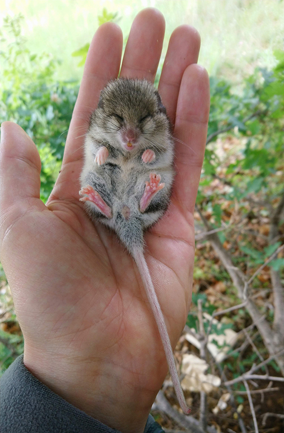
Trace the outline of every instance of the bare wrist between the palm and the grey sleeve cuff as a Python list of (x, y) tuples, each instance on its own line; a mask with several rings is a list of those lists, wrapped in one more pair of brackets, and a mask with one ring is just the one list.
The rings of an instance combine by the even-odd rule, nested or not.
[[(53, 392), (123, 433), (142, 433), (156, 391), (123, 368), (98, 359), (47, 354), (25, 345), (26, 368)], [(135, 416), (133, 416), (135, 414)]]

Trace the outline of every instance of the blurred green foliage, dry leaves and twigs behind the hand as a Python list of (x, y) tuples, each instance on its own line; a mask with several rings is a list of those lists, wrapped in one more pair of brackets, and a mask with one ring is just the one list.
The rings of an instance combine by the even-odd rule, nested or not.
[[(199, 348), (183, 337), (176, 355), (180, 364), (184, 354), (198, 355), (207, 361), (207, 372), (221, 379), (221, 386), (210, 392), (202, 387), (185, 391), (192, 415), (199, 419), (199, 430), (194, 431), (206, 431), (208, 424), (210, 431), (282, 431), (283, 3), (263, 0), (261, 8), (255, 0), (133, 3), (87, 0), (82, 6), (78, 0), (50, 0), (47, 8), (41, 1), (0, 0), (0, 9), (6, 6), (9, 12), (2, 12), (0, 35), (0, 121), (17, 122), (37, 144), (45, 201), (60, 170), (82, 74), (77, 65), (84, 63), (97, 25), (119, 21), (127, 36), (136, 13), (156, 6), (167, 22), (165, 49), (177, 25), (197, 27), (201, 63), (211, 75), (211, 110), (195, 214), (194, 295), (185, 336), (194, 336)], [(25, 18), (15, 15), (21, 8)], [(80, 29), (77, 34), (75, 27)], [(47, 34), (53, 37), (47, 39)], [(0, 278), (4, 372), (22, 353), (23, 338), (2, 268)], [(233, 346), (217, 338), (227, 329), (237, 333)], [(217, 352), (225, 350), (221, 361), (208, 350), (208, 340)], [(157, 420), (168, 429), (193, 428), (194, 421), (186, 424), (171, 406), (166, 406), (171, 419), (165, 415), (168, 401), (177, 409), (172, 388), (165, 383), (153, 407)]]

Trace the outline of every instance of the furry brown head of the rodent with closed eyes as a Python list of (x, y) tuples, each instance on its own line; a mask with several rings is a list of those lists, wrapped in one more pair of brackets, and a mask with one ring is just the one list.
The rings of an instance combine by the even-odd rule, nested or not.
[(124, 151), (157, 147), (169, 134), (166, 109), (147, 80), (118, 78), (101, 91), (90, 132)]

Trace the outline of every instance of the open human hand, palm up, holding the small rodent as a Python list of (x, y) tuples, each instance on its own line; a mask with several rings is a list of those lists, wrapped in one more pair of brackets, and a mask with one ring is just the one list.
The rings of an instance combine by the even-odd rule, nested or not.
[[(121, 76), (154, 80), (164, 19), (135, 18)], [(146, 261), (175, 346), (191, 299), (193, 210), (209, 113), (206, 71), (195, 65), (199, 36), (187, 26), (170, 39), (159, 83), (175, 125), (176, 177), (163, 219), (146, 233)], [(0, 245), (25, 338), (24, 362), (49, 388), (123, 432), (141, 432), (167, 365), (132, 258), (115, 235), (94, 226), (79, 201), (82, 135), (100, 90), (119, 73), (123, 38), (106, 23), (96, 32), (66, 142), (62, 170), (45, 205), (40, 158), (17, 125), (2, 125)], [(80, 137), (79, 137), (80, 136)]]

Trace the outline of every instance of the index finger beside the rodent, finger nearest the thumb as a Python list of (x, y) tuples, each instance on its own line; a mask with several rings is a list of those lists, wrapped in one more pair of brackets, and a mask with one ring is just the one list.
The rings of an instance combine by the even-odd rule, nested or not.
[(122, 45), (122, 31), (114, 23), (103, 24), (93, 37), (66, 140), (62, 169), (48, 203), (66, 198), (78, 200), (84, 138), (90, 116), (97, 106), (101, 89), (118, 76)]

